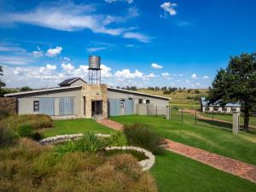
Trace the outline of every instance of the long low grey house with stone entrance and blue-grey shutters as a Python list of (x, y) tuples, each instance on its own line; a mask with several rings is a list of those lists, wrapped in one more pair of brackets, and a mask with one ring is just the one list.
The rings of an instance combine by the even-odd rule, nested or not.
[(169, 98), (137, 91), (66, 79), (59, 87), (6, 94), (15, 97), (18, 114), (49, 114), (55, 119), (92, 118), (127, 114), (163, 114)]

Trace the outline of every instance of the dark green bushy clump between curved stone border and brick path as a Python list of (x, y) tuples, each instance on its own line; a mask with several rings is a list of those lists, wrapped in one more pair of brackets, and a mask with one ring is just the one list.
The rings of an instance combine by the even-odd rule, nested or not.
[(124, 133), (130, 145), (146, 148), (154, 154), (163, 154), (164, 150), (160, 147), (162, 139), (150, 131), (149, 125), (138, 123), (125, 125)]

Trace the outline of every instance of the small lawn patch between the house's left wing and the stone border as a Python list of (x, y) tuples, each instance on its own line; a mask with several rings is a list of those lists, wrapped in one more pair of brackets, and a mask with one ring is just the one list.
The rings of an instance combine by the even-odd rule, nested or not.
[(106, 126), (96, 123), (93, 119), (67, 119), (55, 120), (55, 127), (46, 129), (44, 137), (53, 137), (56, 135), (83, 133), (91, 131), (94, 133), (112, 133), (113, 130)]

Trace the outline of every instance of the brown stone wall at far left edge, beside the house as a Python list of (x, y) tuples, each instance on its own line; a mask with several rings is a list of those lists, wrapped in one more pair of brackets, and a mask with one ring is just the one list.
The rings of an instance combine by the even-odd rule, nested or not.
[(0, 97), (0, 109), (9, 111), (9, 113), (17, 113), (17, 100), (15, 97)]

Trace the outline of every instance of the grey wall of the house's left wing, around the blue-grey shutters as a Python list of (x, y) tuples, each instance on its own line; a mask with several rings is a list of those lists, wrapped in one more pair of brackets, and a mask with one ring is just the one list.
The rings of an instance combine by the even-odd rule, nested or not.
[(59, 98), (73, 96), (73, 113), (81, 115), (81, 88), (71, 90), (54, 90), (46, 93), (34, 93), (18, 97), (19, 114), (37, 114), (33, 111), (33, 102), (40, 98), (55, 98), (55, 115), (59, 115)]

